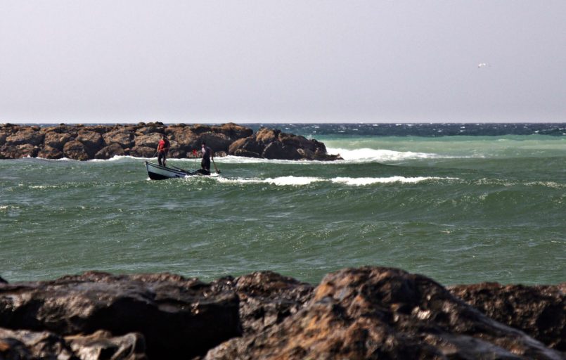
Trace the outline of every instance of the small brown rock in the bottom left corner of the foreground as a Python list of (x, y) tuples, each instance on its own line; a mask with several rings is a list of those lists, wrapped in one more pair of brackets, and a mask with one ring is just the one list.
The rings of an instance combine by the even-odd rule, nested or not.
[(0, 359), (79, 360), (60, 336), (49, 331), (0, 328)]

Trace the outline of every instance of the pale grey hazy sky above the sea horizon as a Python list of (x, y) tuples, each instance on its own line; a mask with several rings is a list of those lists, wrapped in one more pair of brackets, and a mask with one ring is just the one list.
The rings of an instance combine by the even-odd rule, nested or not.
[(564, 0), (1, 0), (0, 123), (566, 122)]

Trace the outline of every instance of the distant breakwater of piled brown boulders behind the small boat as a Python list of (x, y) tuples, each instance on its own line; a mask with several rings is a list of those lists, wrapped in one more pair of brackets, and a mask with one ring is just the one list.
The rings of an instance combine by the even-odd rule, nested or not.
[(169, 158), (194, 158), (205, 141), (217, 156), (236, 155), (278, 160), (340, 160), (326, 152), (324, 143), (304, 136), (285, 134), (262, 127), (227, 123), (202, 124), (115, 124), (85, 126), (59, 124), (39, 127), (0, 124), (0, 159), (45, 158), (72, 160), (109, 159), (116, 155), (139, 158), (155, 156), (162, 134), (171, 142)]

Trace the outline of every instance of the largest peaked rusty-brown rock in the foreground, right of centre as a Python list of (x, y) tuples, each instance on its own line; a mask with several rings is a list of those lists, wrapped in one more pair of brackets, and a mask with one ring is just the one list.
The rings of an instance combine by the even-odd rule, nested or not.
[(364, 267), (328, 274), (283, 322), (205, 359), (562, 359), (430, 278)]

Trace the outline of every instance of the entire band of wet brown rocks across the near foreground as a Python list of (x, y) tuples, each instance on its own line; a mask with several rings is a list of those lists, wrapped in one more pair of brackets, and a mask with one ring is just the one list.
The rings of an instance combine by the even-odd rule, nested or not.
[(0, 359), (565, 359), (566, 283), (443, 287), (385, 267), (0, 278)]

